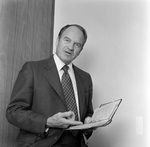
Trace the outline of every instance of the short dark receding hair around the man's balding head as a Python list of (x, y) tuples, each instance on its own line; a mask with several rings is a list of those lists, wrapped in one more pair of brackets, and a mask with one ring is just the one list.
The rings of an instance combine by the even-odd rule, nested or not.
[(83, 42), (83, 46), (84, 46), (84, 44), (85, 44), (85, 42), (86, 42), (86, 40), (87, 40), (87, 32), (86, 32), (86, 30), (85, 30), (82, 26), (77, 25), (77, 24), (68, 24), (68, 25), (64, 26), (63, 28), (61, 28), (61, 30), (60, 30), (60, 32), (59, 32), (59, 34), (58, 34), (58, 38), (60, 39), (61, 36), (62, 36), (62, 34), (63, 34), (63, 32), (64, 32), (67, 28), (72, 27), (72, 26), (77, 27), (79, 30), (82, 31), (82, 33), (83, 33), (83, 35), (84, 35), (84, 42)]

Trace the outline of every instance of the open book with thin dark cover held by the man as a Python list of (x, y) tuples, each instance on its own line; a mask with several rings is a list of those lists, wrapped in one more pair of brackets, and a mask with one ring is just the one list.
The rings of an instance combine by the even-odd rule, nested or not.
[(115, 101), (100, 105), (99, 108), (94, 110), (91, 123), (71, 126), (67, 130), (83, 130), (83, 129), (105, 126), (107, 123), (109, 123), (109, 121), (112, 120), (121, 101), (122, 99), (119, 99), (119, 100), (115, 100)]

